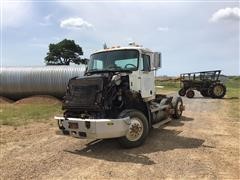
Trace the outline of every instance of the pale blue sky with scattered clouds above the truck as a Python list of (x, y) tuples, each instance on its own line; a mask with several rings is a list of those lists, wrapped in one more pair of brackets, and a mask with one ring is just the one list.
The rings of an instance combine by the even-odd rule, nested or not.
[(135, 41), (162, 53), (159, 75), (222, 69), (239, 75), (238, 1), (1, 1), (3, 66), (44, 65), (49, 43), (75, 40), (84, 57)]

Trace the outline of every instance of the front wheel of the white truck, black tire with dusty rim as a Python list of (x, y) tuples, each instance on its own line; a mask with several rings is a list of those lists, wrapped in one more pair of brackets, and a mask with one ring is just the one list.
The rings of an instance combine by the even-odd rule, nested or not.
[(130, 125), (126, 136), (118, 139), (120, 145), (125, 148), (142, 145), (149, 132), (146, 116), (138, 110), (129, 109), (122, 111), (119, 117), (130, 117)]

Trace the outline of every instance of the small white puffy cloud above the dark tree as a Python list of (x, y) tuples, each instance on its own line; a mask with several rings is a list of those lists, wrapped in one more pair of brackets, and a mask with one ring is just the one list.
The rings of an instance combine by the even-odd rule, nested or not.
[(67, 29), (83, 29), (83, 28), (93, 28), (93, 25), (80, 17), (68, 18), (62, 20), (60, 23), (61, 28)]

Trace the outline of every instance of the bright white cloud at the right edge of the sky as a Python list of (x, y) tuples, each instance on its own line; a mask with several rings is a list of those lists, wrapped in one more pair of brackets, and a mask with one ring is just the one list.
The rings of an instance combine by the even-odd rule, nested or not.
[(219, 9), (216, 11), (212, 17), (210, 18), (210, 22), (218, 22), (220, 20), (231, 20), (231, 21), (238, 21), (240, 20), (240, 8), (224, 8)]

